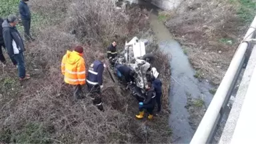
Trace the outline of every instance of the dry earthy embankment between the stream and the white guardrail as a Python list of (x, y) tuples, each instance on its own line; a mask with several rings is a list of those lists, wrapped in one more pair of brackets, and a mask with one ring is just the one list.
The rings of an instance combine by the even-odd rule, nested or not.
[(195, 77), (218, 85), (254, 17), (255, 2), (189, 0), (160, 18), (197, 70)]

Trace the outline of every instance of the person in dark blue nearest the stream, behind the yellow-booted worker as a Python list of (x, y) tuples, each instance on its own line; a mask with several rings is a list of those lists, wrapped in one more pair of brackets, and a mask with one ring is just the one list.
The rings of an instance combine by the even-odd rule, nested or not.
[(157, 100), (157, 112), (161, 111), (161, 96), (162, 96), (162, 82), (160, 79), (155, 79), (155, 77), (151, 76), (151, 81), (153, 83), (153, 86), (155, 88), (155, 99)]

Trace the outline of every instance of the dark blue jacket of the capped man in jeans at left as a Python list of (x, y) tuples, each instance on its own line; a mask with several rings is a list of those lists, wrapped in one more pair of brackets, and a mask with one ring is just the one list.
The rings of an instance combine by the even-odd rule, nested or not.
[[(7, 20), (3, 21), (3, 39), (5, 41), (5, 47), (8, 51), (9, 56), (13, 56), (14, 54), (22, 53), (25, 51), (23, 39), (17, 31), (16, 27), (11, 27)], [(16, 47), (13, 47), (13, 43), (15, 43)]]

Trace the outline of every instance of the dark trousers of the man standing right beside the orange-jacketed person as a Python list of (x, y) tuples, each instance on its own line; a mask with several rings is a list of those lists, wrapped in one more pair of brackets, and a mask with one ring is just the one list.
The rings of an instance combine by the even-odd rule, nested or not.
[(89, 96), (91, 97), (91, 100), (93, 101), (93, 105), (96, 105), (96, 107), (104, 111), (103, 105), (102, 105), (102, 100), (101, 100), (101, 88), (99, 85), (90, 85), (87, 84), (87, 89), (89, 92)]

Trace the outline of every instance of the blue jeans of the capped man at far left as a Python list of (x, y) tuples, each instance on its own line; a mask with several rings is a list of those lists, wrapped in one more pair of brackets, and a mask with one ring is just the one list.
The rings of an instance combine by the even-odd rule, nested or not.
[(25, 69), (25, 60), (23, 53), (15, 54), (14, 55), (15, 61), (18, 64), (18, 75), (21, 79), (26, 76), (26, 69)]

